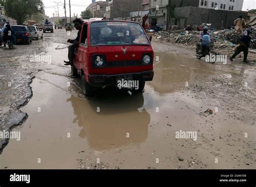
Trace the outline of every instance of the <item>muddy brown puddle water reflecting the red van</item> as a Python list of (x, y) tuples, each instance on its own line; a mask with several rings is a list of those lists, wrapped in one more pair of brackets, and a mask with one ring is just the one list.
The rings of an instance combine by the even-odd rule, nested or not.
[[(86, 100), (80, 81), (67, 77), (70, 69), (62, 65), (66, 52), (57, 50), (51, 65), (39, 65), (43, 71), (31, 84), (33, 97), (21, 108), (29, 117), (13, 129), (21, 131), (21, 141), (11, 139), (4, 148), (1, 169), (90, 168), (97, 161), (121, 169), (232, 167), (233, 161), (226, 164), (225, 159), (216, 165), (216, 154), (204, 148), (202, 134), (209, 122), (198, 113), (209, 106), (186, 91), (186, 84), (225, 71), (197, 59), (156, 52), (154, 80), (147, 82), (143, 94), (107, 88)], [(198, 141), (177, 140), (180, 129), (198, 131)], [(218, 145), (225, 149), (223, 143)]]

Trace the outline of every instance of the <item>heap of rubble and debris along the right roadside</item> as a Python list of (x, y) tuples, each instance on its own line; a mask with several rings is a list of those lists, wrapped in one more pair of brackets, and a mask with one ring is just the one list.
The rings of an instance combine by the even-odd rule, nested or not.
[[(234, 48), (239, 43), (241, 34), (234, 29), (224, 29), (208, 31), (211, 38), (215, 40), (215, 49)], [(167, 42), (181, 43), (195, 46), (198, 42), (199, 31), (185, 31), (183, 29), (171, 31), (159, 31), (154, 34), (157, 39), (166, 40)], [(256, 49), (256, 29), (251, 34), (251, 47)]]

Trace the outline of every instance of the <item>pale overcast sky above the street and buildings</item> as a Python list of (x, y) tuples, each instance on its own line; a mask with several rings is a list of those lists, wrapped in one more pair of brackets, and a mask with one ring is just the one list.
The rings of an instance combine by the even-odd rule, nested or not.
[[(60, 2), (59, 16), (65, 16), (65, 13), (64, 13), (65, 11), (63, 8), (64, 0), (43, 0), (43, 2), (45, 6), (45, 13), (47, 16), (52, 17), (53, 16), (52, 13), (55, 13), (55, 11), (57, 11), (57, 3), (55, 2)], [(75, 15), (80, 16), (80, 13), (86, 9), (86, 7), (91, 3), (91, 0), (70, 0), (70, 2), (71, 2), (71, 15), (75, 13)], [(67, 16), (69, 16), (68, 4), (69, 4), (69, 0), (66, 0)], [(244, 6), (242, 10), (247, 10), (247, 9), (256, 9), (256, 0), (244, 0)]]

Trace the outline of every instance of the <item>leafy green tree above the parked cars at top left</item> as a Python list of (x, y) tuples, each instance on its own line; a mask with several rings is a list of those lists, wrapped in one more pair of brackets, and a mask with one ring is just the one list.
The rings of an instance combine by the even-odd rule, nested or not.
[(8, 17), (17, 20), (19, 25), (36, 13), (43, 12), (42, 0), (5, 0), (4, 9)]

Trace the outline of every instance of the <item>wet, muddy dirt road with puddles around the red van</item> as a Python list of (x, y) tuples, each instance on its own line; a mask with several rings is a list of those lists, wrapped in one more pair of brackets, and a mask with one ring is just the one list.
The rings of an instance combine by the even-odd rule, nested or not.
[[(153, 43), (155, 76), (143, 94), (104, 89), (86, 100), (63, 65), (75, 35), (0, 47), (0, 130), (23, 122), (12, 129), (21, 140), (1, 145), (0, 169), (255, 168), (255, 65), (208, 64)], [(51, 63), (31, 61), (37, 54)]]

